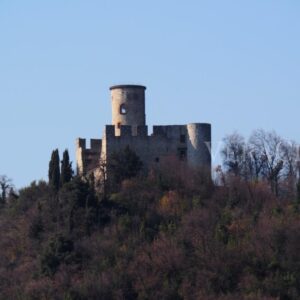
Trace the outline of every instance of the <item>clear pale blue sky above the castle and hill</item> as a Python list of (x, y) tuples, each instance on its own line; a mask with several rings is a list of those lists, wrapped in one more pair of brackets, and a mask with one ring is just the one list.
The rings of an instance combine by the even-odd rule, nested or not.
[(300, 142), (300, 1), (0, 0), (0, 174), (22, 187), (47, 178), (54, 148), (74, 160), (119, 83), (148, 87), (151, 126)]

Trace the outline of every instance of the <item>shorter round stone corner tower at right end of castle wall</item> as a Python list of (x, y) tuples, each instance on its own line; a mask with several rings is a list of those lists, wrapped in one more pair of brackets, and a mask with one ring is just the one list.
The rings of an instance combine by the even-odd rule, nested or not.
[(187, 158), (191, 167), (211, 171), (211, 125), (193, 123), (187, 125)]

